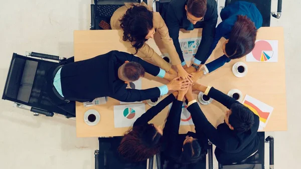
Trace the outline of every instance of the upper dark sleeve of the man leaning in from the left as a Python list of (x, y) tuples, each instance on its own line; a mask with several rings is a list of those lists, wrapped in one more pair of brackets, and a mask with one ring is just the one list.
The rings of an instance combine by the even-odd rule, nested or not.
[(140, 59), (139, 57), (136, 57), (132, 54), (125, 53), (125, 52), (119, 52), (119, 51), (112, 51), (113, 56), (116, 57), (117, 62), (123, 64), (125, 61), (129, 62), (137, 62), (142, 65), (145, 72), (157, 76), (160, 72), (160, 68), (158, 66), (155, 66), (153, 64), (150, 64), (148, 62), (145, 62), (144, 60)]

